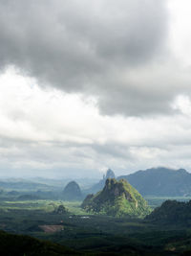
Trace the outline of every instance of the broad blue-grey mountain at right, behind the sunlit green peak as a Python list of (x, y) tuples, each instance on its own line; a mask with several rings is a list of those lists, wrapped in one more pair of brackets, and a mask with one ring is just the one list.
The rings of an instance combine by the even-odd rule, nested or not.
[(184, 169), (152, 168), (132, 175), (122, 175), (143, 196), (191, 196), (191, 174)]

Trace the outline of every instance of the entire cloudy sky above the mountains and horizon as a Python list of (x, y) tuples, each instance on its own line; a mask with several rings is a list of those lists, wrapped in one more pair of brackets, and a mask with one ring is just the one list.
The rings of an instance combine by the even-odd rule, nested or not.
[(189, 0), (0, 0), (0, 176), (191, 172)]

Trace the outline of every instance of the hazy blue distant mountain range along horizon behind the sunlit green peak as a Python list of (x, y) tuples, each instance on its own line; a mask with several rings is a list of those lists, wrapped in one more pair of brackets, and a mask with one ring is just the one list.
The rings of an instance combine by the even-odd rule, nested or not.
[[(66, 180), (58, 180), (57, 183), (53, 181), (53, 184), (45, 182), (46, 180), (36, 179), (36, 182), (24, 179), (8, 179), (0, 180), (0, 192), (3, 190), (19, 190), (21, 191), (38, 191), (38, 196), (41, 198), (65, 198), (79, 199), (84, 198), (88, 194), (96, 194), (96, 192), (103, 189), (107, 178), (115, 178), (115, 173), (109, 169), (106, 175), (100, 179), (97, 183), (89, 183), (88, 180), (84, 179), (84, 185), (79, 188), (79, 183), (70, 184), (69, 188), (63, 193), (63, 187), (67, 184)], [(123, 178), (126, 179), (133, 187), (135, 187), (140, 195), (143, 197), (191, 197), (191, 174), (184, 169), (173, 170), (169, 168), (151, 168), (145, 171), (138, 171), (131, 175), (120, 175), (116, 177), (117, 180)], [(37, 180), (39, 182), (37, 182)], [(41, 182), (40, 182), (41, 181)], [(86, 182), (85, 182), (86, 181)], [(62, 184), (62, 186), (61, 186)], [(93, 185), (94, 184), (94, 185)], [(90, 187), (92, 185), (92, 187)], [(88, 188), (89, 187), (89, 188)], [(56, 195), (42, 195), (44, 192), (53, 192)], [(53, 194), (52, 193), (52, 194)], [(62, 197), (65, 194), (64, 197)], [(70, 196), (71, 194), (72, 196)], [(74, 196), (75, 194), (75, 196)]]

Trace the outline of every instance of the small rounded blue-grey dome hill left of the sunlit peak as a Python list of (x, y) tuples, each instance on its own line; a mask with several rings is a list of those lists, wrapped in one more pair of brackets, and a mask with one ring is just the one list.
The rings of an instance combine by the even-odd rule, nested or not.
[(82, 198), (79, 185), (75, 181), (69, 182), (64, 191), (63, 198), (65, 200), (80, 200)]

